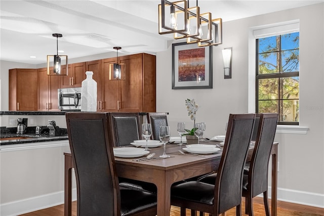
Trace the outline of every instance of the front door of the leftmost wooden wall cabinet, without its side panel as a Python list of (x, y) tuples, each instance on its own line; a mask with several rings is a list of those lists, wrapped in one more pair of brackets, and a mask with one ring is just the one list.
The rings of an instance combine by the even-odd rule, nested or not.
[(17, 69), (17, 111), (37, 111), (37, 69)]

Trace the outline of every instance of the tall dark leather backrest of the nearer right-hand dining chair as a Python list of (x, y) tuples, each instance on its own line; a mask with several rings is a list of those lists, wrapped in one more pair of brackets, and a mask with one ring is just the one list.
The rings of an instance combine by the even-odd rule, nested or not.
[[(247, 159), (255, 114), (229, 115), (224, 149), (215, 183), (215, 211), (218, 213), (241, 203), (242, 177)], [(217, 205), (218, 203), (218, 205)]]

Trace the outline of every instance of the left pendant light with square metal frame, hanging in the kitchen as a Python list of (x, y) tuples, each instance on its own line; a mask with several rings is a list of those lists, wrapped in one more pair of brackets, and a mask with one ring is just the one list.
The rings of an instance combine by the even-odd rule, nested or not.
[[(54, 33), (53, 37), (56, 37), (56, 55), (48, 55), (47, 56), (47, 75), (49, 76), (67, 76), (68, 67), (66, 69), (61, 69), (62, 63), (65, 65), (67, 62), (67, 55), (59, 55), (58, 51), (58, 38), (62, 38), (62, 34)], [(53, 62), (53, 69), (50, 67), (50, 62)], [(64, 67), (65, 68), (65, 67)]]

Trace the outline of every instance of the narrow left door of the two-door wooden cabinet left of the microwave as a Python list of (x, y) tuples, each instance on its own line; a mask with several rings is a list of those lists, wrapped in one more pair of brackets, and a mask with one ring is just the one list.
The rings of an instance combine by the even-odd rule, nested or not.
[(38, 74), (38, 111), (47, 111), (49, 109), (49, 76), (47, 75), (47, 67), (37, 69)]

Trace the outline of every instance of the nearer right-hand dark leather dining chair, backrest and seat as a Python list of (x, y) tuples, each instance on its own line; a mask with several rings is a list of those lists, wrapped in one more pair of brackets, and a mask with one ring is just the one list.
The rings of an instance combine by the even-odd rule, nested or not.
[(171, 188), (171, 205), (218, 215), (236, 206), (241, 215), (243, 168), (249, 150), (255, 114), (229, 115), (226, 138), (214, 184), (190, 181)]

